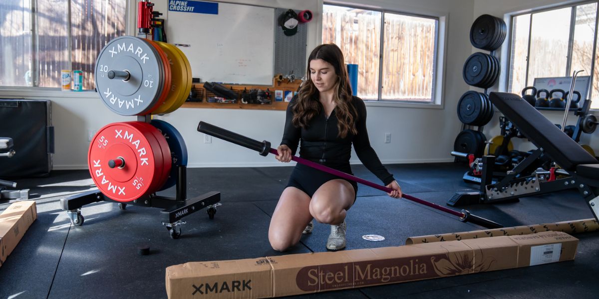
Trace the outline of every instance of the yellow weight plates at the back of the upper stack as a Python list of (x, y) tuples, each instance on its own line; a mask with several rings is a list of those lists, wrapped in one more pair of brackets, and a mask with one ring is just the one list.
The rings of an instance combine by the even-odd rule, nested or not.
[(168, 63), (171, 66), (171, 89), (168, 91), (164, 102), (152, 112), (152, 114), (163, 114), (175, 105), (177, 100), (179, 100), (179, 97), (181, 97), (181, 94), (185, 91), (186, 86), (184, 86), (182, 71), (185, 66), (179, 53), (173, 49), (174, 45), (160, 41), (156, 41), (156, 44), (158, 44), (164, 53), (167, 54)]

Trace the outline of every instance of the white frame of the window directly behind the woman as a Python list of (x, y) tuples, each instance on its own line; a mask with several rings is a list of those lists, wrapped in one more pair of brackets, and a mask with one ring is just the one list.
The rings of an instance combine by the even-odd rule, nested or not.
[[(325, 1), (323, 5), (333, 5), (338, 7), (347, 7), (347, 8), (355, 8), (360, 10), (370, 10), (381, 13), (381, 30), (380, 30), (380, 51), (379, 51), (379, 87), (378, 87), (378, 99), (370, 100), (364, 99), (364, 102), (367, 106), (383, 106), (383, 107), (400, 107), (400, 108), (434, 108), (434, 109), (443, 109), (444, 101), (443, 101), (443, 91), (444, 91), (444, 74), (445, 74), (445, 49), (447, 47), (447, 15), (446, 14), (435, 14), (431, 12), (427, 13), (415, 13), (412, 11), (401, 11), (401, 10), (392, 10), (383, 7), (370, 7), (370, 6), (360, 6), (353, 4), (346, 4), (343, 2), (337, 1)], [(384, 52), (384, 35), (385, 35), (385, 13), (390, 14), (401, 14), (403, 16), (410, 17), (422, 17), (426, 19), (433, 19), (437, 21), (437, 26), (435, 26), (435, 39), (434, 39), (434, 57), (433, 57), (433, 78), (432, 78), (432, 88), (431, 88), (431, 101), (430, 102), (420, 102), (415, 100), (403, 100), (403, 99), (382, 99), (382, 80), (383, 80), (383, 52)], [(320, 29), (320, 34), (322, 34), (322, 28)], [(320, 40), (322, 42), (322, 39)]]

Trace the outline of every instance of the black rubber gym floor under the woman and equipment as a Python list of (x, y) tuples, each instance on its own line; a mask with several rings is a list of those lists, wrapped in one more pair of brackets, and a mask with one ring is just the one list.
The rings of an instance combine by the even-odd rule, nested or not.
[[(364, 166), (356, 176), (379, 181)], [(203, 212), (184, 218), (183, 234), (173, 240), (159, 221), (160, 209), (116, 203), (85, 206), (81, 227), (71, 225), (59, 200), (90, 190), (86, 170), (55, 171), (47, 178), (17, 180), (31, 188), (38, 219), (0, 267), (0, 298), (165, 298), (165, 268), (188, 261), (231, 260), (280, 255), (268, 244), (271, 214), (291, 167), (201, 168), (187, 173), (188, 197), (220, 191), (214, 219)], [(464, 164), (392, 164), (388, 169), (404, 193), (445, 205), (453, 193), (477, 185), (462, 181)], [(173, 190), (164, 192), (174, 196)], [(10, 205), (0, 201), (0, 210)], [(563, 191), (520, 202), (465, 207), (504, 226), (592, 218), (576, 192)], [(347, 218), (347, 249), (403, 245), (410, 236), (481, 229), (455, 216), (359, 185)], [(329, 225), (284, 254), (326, 251)], [(379, 234), (383, 242), (361, 236)], [(464, 276), (398, 283), (297, 298), (597, 298), (599, 233), (577, 234), (574, 261)], [(137, 254), (149, 245), (150, 255)]]

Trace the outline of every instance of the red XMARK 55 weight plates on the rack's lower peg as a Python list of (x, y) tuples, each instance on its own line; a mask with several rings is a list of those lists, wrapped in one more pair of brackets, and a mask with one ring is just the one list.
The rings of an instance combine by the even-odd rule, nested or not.
[[(93, 136), (87, 166), (102, 193), (117, 202), (131, 202), (156, 190), (162, 173), (162, 152), (150, 132), (129, 123), (111, 123)], [(110, 168), (108, 161), (122, 158), (124, 166)]]

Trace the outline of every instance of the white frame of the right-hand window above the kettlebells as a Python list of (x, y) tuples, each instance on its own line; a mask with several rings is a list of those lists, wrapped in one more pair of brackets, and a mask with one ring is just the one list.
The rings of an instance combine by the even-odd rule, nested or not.
[[(506, 74), (506, 80), (505, 80), (505, 90), (506, 92), (515, 92), (513, 90), (510, 90), (511, 87), (511, 83), (512, 83), (512, 50), (513, 50), (513, 34), (514, 34), (514, 19), (516, 17), (519, 16), (524, 16), (526, 14), (530, 14), (530, 24), (528, 25), (528, 45), (527, 45), (527, 66), (526, 66), (526, 74), (525, 74), (525, 85), (524, 86), (530, 86), (528, 85), (528, 72), (529, 72), (529, 66), (530, 66), (530, 42), (531, 42), (531, 33), (532, 33), (532, 29), (533, 29), (533, 14), (537, 14), (537, 13), (544, 13), (546, 11), (552, 11), (552, 10), (561, 10), (562, 8), (571, 8), (571, 14), (570, 14), (570, 34), (568, 36), (568, 60), (566, 62), (566, 71), (565, 71), (565, 75), (564, 77), (571, 77), (572, 75), (572, 56), (573, 56), (573, 48), (574, 48), (574, 29), (576, 28), (576, 7), (579, 5), (585, 5), (585, 4), (591, 4), (591, 3), (597, 3), (597, 9), (595, 10), (595, 36), (593, 37), (593, 54), (591, 57), (591, 69), (589, 71), (585, 70), (586, 74), (591, 75), (591, 79), (589, 80), (589, 94), (588, 94), (588, 98), (591, 99), (593, 96), (593, 81), (594, 81), (594, 70), (595, 67), (597, 67), (595, 65), (595, 60), (594, 57), (597, 55), (597, 42), (598, 42), (598, 29), (599, 29), (599, 0), (589, 0), (589, 1), (580, 1), (580, 2), (573, 2), (573, 3), (567, 3), (567, 4), (561, 4), (561, 5), (554, 5), (554, 6), (550, 6), (550, 7), (541, 7), (538, 9), (531, 9), (531, 10), (526, 10), (526, 11), (519, 11), (516, 13), (512, 13), (512, 14), (507, 14), (507, 16), (509, 17), (510, 20), (510, 30), (508, 32), (508, 36), (506, 38), (509, 38), (509, 45), (507, 47), (507, 67), (506, 69), (509, 71)], [(581, 73), (582, 74), (582, 73)], [(583, 74), (583, 75), (586, 75)], [(520, 93), (520, 91), (516, 91), (516, 93)], [(599, 110), (599, 108), (595, 108), (592, 109), (594, 111)]]

